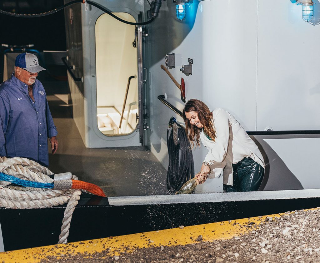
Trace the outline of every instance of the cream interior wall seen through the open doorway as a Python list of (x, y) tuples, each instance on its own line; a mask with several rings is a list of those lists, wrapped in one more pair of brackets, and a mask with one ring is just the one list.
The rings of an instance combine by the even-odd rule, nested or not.
[[(135, 22), (132, 15), (116, 12), (123, 20)], [(124, 24), (108, 14), (102, 14), (95, 25), (97, 106), (115, 106), (122, 111), (125, 91), (130, 76), (137, 75), (137, 49), (133, 25)], [(126, 105), (137, 101), (137, 78), (131, 80)], [(133, 108), (136, 108), (133, 107)]]

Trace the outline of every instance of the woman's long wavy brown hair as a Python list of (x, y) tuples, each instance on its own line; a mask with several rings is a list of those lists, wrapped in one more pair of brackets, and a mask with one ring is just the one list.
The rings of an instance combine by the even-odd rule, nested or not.
[(196, 146), (200, 147), (200, 133), (202, 128), (198, 128), (191, 124), (186, 118), (186, 112), (195, 111), (198, 114), (199, 121), (203, 125), (204, 132), (213, 140), (216, 139), (215, 128), (213, 124), (212, 112), (209, 110), (208, 106), (205, 105), (201, 100), (191, 99), (188, 100), (183, 108), (182, 115), (183, 120), (186, 124), (186, 133), (188, 138), (194, 146), (193, 142), (196, 142)]

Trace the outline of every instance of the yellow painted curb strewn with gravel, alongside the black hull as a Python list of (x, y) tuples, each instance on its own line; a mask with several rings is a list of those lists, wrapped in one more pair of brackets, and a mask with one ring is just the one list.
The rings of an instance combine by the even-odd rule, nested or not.
[(119, 255), (122, 252), (133, 251), (136, 248), (192, 244), (198, 242), (197, 239), (200, 235), (202, 235), (202, 241), (231, 239), (234, 236), (243, 235), (256, 229), (260, 223), (265, 222), (265, 219), (267, 217), (280, 217), (280, 215), (282, 214), (229, 220), (132, 235), (122, 235), (116, 237), (68, 243), (65, 245), (60, 244), (7, 251), (0, 253), (0, 259), (3, 263), (36, 263), (49, 256), (63, 258), (64, 255), (70, 256), (80, 253), (83, 254), (85, 258), (90, 258), (90, 254), (105, 250), (109, 251), (109, 256), (114, 256)]

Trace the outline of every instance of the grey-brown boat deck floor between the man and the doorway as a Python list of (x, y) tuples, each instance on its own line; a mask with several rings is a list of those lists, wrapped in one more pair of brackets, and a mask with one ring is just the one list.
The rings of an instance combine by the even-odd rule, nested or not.
[(167, 172), (146, 147), (86, 148), (68, 105), (67, 81), (54, 80), (45, 73), (38, 79), (58, 130), (58, 151), (49, 155), (53, 173), (70, 171), (79, 180), (100, 186), (106, 196), (168, 194)]

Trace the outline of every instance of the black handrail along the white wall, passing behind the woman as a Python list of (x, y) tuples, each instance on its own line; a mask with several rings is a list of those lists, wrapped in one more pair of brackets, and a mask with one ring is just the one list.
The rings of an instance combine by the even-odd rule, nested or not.
[[(170, 104), (164, 99), (164, 95), (159, 95), (158, 100), (160, 100), (164, 105), (172, 109), (175, 113), (179, 114), (181, 117), (182, 112)], [(320, 130), (297, 130), (297, 131), (249, 131), (248, 135), (295, 135), (295, 134), (320, 134)]]

